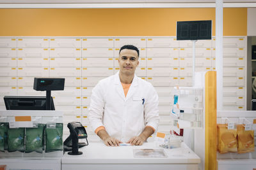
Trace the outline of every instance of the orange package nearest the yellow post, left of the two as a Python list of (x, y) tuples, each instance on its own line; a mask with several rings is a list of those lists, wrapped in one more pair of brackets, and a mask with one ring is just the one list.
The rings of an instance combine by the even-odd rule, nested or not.
[(218, 124), (218, 152), (237, 152), (236, 129), (228, 129), (227, 124)]

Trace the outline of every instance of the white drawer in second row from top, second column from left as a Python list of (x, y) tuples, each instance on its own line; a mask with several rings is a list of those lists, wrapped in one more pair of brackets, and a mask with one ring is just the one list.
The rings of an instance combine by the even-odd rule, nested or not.
[(49, 57), (48, 48), (18, 48), (17, 57)]

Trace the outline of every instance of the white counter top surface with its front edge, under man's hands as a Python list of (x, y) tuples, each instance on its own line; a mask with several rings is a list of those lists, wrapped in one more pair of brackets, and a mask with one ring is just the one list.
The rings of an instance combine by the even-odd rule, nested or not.
[(62, 164), (198, 164), (200, 158), (186, 146), (181, 148), (165, 149), (168, 157), (163, 158), (134, 158), (134, 149), (162, 149), (155, 143), (144, 143), (142, 146), (106, 146), (104, 143), (89, 143), (79, 148), (83, 155), (68, 155), (61, 159)]

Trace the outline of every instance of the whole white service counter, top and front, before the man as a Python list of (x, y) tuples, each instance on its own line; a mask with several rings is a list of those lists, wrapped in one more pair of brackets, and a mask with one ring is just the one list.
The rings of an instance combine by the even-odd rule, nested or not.
[[(133, 149), (156, 149), (154, 143), (144, 143), (142, 146), (106, 146), (104, 143), (90, 143), (80, 148), (83, 155), (68, 155), (61, 159), (61, 169), (186, 169), (198, 170), (200, 158), (184, 143), (181, 148), (164, 149), (168, 157), (164, 158), (134, 158)], [(159, 149), (159, 148), (157, 148)]]

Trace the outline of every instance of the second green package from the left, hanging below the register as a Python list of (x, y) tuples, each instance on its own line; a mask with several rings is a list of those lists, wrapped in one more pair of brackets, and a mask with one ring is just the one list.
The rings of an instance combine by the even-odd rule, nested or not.
[(8, 152), (24, 152), (25, 128), (8, 129)]

